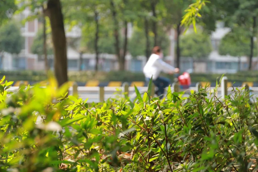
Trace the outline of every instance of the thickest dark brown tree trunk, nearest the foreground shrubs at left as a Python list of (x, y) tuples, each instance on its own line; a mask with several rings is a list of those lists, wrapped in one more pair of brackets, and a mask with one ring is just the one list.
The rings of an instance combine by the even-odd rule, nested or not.
[(49, 0), (47, 2), (47, 11), (54, 45), (55, 77), (58, 81), (58, 85), (61, 86), (68, 81), (68, 77), (66, 37), (60, 0)]

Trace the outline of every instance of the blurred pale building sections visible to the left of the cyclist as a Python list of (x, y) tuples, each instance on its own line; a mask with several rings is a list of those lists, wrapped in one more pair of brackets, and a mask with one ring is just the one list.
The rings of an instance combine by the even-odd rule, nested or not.
[[(15, 16), (18, 21), (23, 21), (30, 15), (30, 10), (27, 8), (20, 14)], [(44, 59), (38, 55), (31, 53), (31, 46), (36, 37), (38, 29), (41, 27), (38, 19), (26, 21), (21, 27), (21, 35), (25, 38), (23, 50), (18, 55), (4, 53), (3, 65), (0, 65), (0, 70), (44, 70)], [(128, 23), (128, 38), (132, 36), (132, 24)], [(66, 37), (80, 38), (81, 29), (73, 27), (71, 30), (66, 30)], [(79, 64), (80, 54), (71, 47), (67, 47), (68, 70), (76, 71), (81, 66), (82, 70), (94, 70), (95, 55), (83, 54), (82, 64)], [(48, 56), (50, 68), (53, 68), (53, 55)], [(118, 61), (116, 56), (112, 54), (99, 55), (99, 69), (103, 71), (118, 70)], [(146, 63), (145, 57), (133, 58), (131, 55), (126, 56), (126, 70), (141, 72), (143, 65)]]

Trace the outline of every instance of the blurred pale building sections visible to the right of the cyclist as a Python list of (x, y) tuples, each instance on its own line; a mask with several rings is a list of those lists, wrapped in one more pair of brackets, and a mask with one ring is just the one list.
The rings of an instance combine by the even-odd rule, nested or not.
[[(221, 39), (230, 31), (230, 28), (224, 27), (223, 22), (217, 22), (216, 30), (211, 34), (213, 51), (208, 57), (203, 57), (202, 59), (181, 57), (181, 71), (188, 70), (196, 73), (236, 73), (238, 71), (248, 70), (249, 57), (233, 57), (230, 55), (220, 55), (218, 53)], [(166, 57), (166, 61), (170, 64), (174, 64), (176, 32), (172, 30), (169, 35), (171, 47), (170, 55)], [(252, 69), (258, 70), (257, 54), (252, 59)]]

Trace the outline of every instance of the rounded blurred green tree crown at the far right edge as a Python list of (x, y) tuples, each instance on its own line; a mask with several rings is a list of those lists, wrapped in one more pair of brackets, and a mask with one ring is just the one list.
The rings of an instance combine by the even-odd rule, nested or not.
[[(240, 32), (229, 32), (220, 42), (219, 53), (221, 55), (249, 56), (250, 52), (250, 40)], [(257, 53), (257, 42), (255, 42), (254, 54)]]

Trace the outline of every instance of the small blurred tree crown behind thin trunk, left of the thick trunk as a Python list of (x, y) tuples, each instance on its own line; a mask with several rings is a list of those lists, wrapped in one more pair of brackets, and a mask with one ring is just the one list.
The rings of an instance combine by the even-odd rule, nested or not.
[[(37, 32), (36, 37), (33, 40), (33, 44), (31, 46), (31, 52), (38, 55), (43, 55), (44, 40), (43, 40), (43, 29), (39, 29)], [(53, 54), (53, 45), (50, 40), (50, 35), (47, 34), (47, 54), (52, 55)]]

